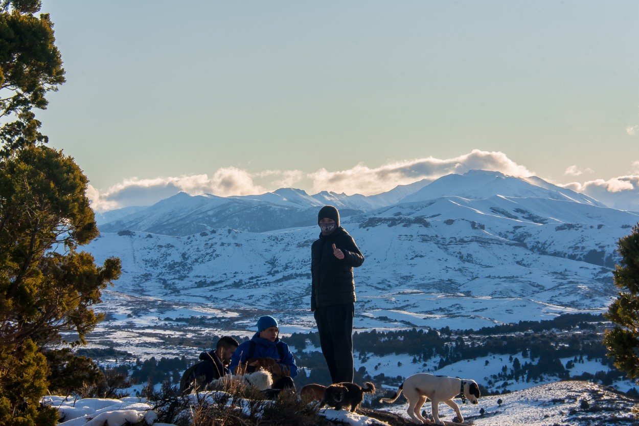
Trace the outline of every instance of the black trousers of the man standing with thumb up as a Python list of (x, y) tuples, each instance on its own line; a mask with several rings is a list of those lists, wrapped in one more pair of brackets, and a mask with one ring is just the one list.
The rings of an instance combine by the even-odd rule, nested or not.
[(355, 303), (318, 308), (314, 316), (331, 380), (333, 383), (352, 382)]

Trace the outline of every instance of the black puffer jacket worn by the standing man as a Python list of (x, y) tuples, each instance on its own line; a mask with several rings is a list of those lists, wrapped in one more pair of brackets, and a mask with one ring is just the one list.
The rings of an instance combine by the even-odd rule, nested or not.
[[(344, 253), (339, 260), (333, 244)], [(353, 237), (341, 226), (330, 235), (319, 235), (311, 246), (311, 311), (325, 306), (355, 302), (353, 267), (364, 263), (364, 256)]]

